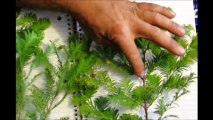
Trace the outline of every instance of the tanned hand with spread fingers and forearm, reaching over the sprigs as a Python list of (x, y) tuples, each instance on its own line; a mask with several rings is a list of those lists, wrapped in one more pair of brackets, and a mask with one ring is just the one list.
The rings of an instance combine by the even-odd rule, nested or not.
[(139, 77), (144, 76), (144, 64), (135, 38), (149, 39), (175, 55), (185, 52), (161, 30), (178, 36), (185, 33), (180, 25), (171, 21), (175, 13), (160, 5), (127, 0), (19, 0), (17, 5), (70, 12), (97, 43), (118, 46)]

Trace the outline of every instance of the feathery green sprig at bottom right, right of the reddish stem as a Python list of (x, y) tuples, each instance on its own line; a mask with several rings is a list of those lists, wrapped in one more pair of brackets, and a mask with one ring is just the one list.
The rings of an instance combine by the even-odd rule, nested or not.
[(173, 105), (175, 104), (175, 101), (177, 101), (182, 95), (189, 92), (186, 88), (191, 82), (193, 82), (194, 75), (194, 73), (191, 73), (188, 76), (182, 76), (181, 74), (172, 74), (166, 81), (163, 82), (162, 85), (160, 85), (161, 90), (159, 90), (159, 93), (162, 93), (162, 91), (169, 92), (170, 90), (177, 90), (173, 95), (170, 95), (173, 96), (172, 100), (167, 100), (164, 97), (161, 97), (158, 100), (158, 104), (156, 107), (157, 110), (155, 111), (155, 113), (159, 114), (160, 120), (170, 117), (178, 117), (176, 115), (164, 115), (164, 113), (169, 109), (174, 108)]

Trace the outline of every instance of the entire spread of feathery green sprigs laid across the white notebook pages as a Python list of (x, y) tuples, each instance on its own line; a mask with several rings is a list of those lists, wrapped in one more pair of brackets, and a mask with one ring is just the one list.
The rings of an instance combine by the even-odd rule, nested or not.
[[(145, 39), (137, 39), (138, 49), (142, 51), (142, 59), (146, 66), (146, 78), (142, 85), (134, 84), (130, 75), (131, 67), (125, 56), (112, 48), (102, 45), (93, 46), (91, 40), (84, 36), (79, 40), (77, 35), (69, 37), (68, 47), (57, 45), (51, 41), (42, 49), (40, 47), (44, 37), (44, 30), (50, 26), (47, 18), (37, 18), (33, 13), (21, 16), (16, 13), (16, 118), (46, 120), (53, 109), (58, 107), (65, 98), (71, 97), (71, 103), (79, 108), (83, 119), (97, 120), (142, 120), (148, 119), (148, 109), (157, 101), (156, 111), (159, 120), (176, 115), (165, 115), (173, 108), (175, 102), (188, 93), (187, 86), (193, 82), (195, 73), (183, 75), (197, 59), (197, 36), (191, 35), (193, 27), (184, 25), (185, 37), (173, 38), (186, 48), (182, 57), (175, 56), (160, 48), (155, 43)], [(190, 42), (186, 38), (190, 38)], [(151, 58), (146, 58), (147, 52)], [(51, 63), (49, 56), (55, 55), (57, 65)], [(117, 57), (117, 59), (115, 59)], [(30, 70), (24, 67), (30, 65)], [(119, 82), (110, 78), (108, 71), (100, 70), (108, 65), (111, 69), (121, 72), (126, 77)], [(31, 72), (38, 67), (43, 69), (30, 78)], [(39, 87), (35, 81), (45, 81), (44, 87)], [(28, 80), (30, 79), (30, 80)], [(95, 94), (99, 89), (107, 91), (106, 96)], [(30, 94), (27, 94), (30, 91)], [(175, 91), (172, 99), (165, 94)], [(59, 95), (62, 97), (59, 98)], [(59, 99), (57, 99), (59, 98)], [(56, 100), (57, 99), (57, 100)], [(33, 110), (27, 109), (32, 103)], [(112, 104), (115, 104), (113, 106)], [(142, 107), (145, 116), (119, 112), (118, 107), (136, 109)], [(61, 120), (74, 119), (62, 117)]]

